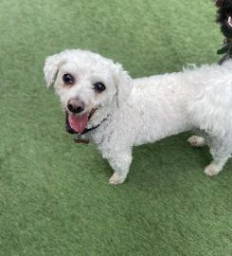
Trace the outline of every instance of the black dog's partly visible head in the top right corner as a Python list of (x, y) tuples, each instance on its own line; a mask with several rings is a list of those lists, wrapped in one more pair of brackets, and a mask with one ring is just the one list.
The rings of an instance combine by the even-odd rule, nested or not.
[(232, 0), (215, 0), (218, 7), (217, 22), (221, 24), (221, 30), (225, 37), (232, 37)]

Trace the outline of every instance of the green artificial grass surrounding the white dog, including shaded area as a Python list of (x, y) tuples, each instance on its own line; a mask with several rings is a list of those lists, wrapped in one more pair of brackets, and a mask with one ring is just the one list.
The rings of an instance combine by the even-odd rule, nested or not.
[(134, 148), (127, 181), (64, 131), (45, 57), (96, 51), (133, 77), (211, 64), (211, 0), (0, 1), (0, 255), (232, 255), (232, 162), (209, 178), (189, 134)]

